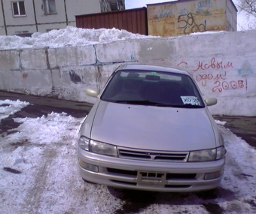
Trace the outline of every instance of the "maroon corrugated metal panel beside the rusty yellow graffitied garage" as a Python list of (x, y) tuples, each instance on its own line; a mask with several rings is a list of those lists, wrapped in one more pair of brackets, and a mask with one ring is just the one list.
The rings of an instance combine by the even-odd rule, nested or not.
[(76, 26), (82, 29), (125, 29), (128, 32), (148, 35), (147, 8), (136, 8), (100, 14), (75, 16)]

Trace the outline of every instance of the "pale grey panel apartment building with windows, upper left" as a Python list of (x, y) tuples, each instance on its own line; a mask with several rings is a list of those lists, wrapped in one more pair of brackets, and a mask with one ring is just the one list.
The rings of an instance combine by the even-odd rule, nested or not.
[(124, 0), (0, 0), (0, 35), (76, 26), (75, 15), (124, 10)]

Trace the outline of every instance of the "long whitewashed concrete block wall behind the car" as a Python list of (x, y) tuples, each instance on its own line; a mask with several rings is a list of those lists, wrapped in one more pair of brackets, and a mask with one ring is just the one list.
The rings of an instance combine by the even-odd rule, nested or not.
[(94, 102), (123, 62), (178, 66), (203, 95), (218, 98), (213, 114), (256, 116), (256, 31), (115, 41), (84, 47), (0, 51), (0, 90)]

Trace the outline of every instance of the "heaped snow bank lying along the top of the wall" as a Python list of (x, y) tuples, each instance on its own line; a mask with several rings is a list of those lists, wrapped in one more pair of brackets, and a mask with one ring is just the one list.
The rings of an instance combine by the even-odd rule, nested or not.
[(88, 44), (106, 44), (127, 39), (156, 38), (133, 34), (119, 29), (78, 29), (68, 26), (66, 29), (52, 30), (47, 33), (34, 33), (32, 38), (19, 36), (0, 36), (0, 50), (39, 47), (84, 46)]

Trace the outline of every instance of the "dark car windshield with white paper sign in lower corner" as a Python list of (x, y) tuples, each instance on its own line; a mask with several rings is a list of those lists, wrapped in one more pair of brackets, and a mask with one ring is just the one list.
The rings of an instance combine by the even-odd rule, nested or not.
[(205, 107), (190, 76), (160, 71), (117, 71), (101, 100), (161, 107)]

